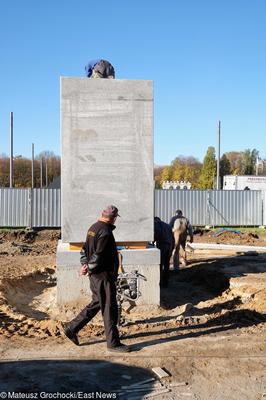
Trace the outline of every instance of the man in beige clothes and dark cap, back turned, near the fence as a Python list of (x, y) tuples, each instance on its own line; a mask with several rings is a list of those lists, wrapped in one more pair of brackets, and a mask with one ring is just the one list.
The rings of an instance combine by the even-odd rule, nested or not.
[[(186, 241), (189, 235), (190, 243), (193, 242), (193, 229), (189, 220), (183, 216), (181, 210), (176, 210), (176, 215), (170, 221), (175, 238), (175, 250), (173, 255), (174, 270), (179, 269), (179, 263), (187, 265)], [(180, 257), (180, 259), (179, 259)]]

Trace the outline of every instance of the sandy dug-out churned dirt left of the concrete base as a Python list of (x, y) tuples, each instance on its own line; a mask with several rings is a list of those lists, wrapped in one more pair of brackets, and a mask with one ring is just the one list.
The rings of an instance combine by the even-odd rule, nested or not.
[(40, 338), (60, 334), (47, 313), (55, 305), (54, 273), (46, 267), (0, 280), (0, 334)]

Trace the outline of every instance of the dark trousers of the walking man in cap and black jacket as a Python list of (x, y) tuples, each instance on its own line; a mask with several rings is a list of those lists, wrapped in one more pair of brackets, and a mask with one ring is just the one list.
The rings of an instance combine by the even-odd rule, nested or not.
[(107, 347), (120, 345), (117, 329), (118, 309), (114, 277), (107, 271), (90, 275), (92, 301), (72, 321), (69, 328), (73, 333), (82, 329), (101, 310)]

